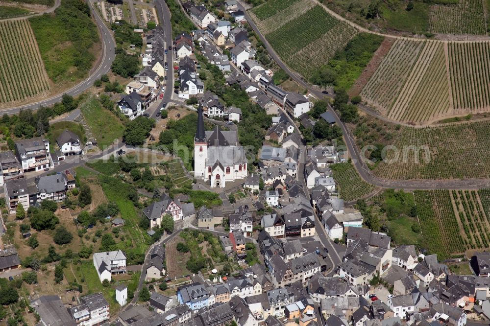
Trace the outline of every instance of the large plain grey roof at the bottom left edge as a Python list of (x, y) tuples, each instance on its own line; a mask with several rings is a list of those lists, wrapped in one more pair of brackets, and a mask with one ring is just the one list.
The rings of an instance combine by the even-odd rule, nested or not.
[(58, 296), (42, 296), (32, 300), (30, 305), (34, 307), (41, 320), (50, 326), (75, 326), (75, 320), (68, 313)]

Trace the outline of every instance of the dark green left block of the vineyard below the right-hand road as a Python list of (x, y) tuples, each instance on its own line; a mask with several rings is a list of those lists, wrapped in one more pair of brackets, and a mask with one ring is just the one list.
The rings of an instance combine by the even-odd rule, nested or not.
[(422, 246), (440, 259), (461, 253), (466, 244), (460, 233), (449, 190), (417, 190), (414, 194), (423, 233)]

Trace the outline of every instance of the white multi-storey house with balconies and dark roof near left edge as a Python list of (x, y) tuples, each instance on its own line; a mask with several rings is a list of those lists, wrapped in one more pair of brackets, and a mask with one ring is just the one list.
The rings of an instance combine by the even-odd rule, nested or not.
[(47, 139), (36, 137), (18, 140), (15, 143), (15, 154), (24, 172), (49, 168), (49, 140)]

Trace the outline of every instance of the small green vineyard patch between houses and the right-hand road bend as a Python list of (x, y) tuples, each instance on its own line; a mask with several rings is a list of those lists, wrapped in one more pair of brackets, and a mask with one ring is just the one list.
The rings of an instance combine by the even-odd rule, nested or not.
[(374, 186), (359, 177), (351, 163), (337, 163), (330, 165), (333, 177), (339, 190), (339, 196), (346, 201), (353, 201), (370, 194)]

